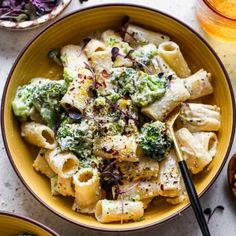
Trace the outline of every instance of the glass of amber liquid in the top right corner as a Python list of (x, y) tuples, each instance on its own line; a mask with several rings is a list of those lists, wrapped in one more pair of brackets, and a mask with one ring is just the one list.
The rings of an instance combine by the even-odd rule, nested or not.
[(236, 0), (198, 0), (197, 18), (207, 33), (236, 40)]

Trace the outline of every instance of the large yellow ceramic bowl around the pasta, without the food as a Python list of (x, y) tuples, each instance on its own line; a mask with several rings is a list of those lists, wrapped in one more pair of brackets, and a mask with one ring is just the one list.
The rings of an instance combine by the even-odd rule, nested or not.
[(20, 137), (19, 124), (13, 116), (11, 101), (19, 85), (37, 76), (56, 78), (61, 71), (47, 58), (52, 48), (78, 43), (92, 32), (108, 28), (117, 29), (121, 19), (128, 15), (132, 22), (148, 29), (170, 35), (180, 44), (192, 71), (204, 68), (214, 78), (214, 94), (207, 103), (221, 108), (222, 127), (218, 133), (217, 154), (208, 168), (194, 179), (197, 192), (202, 195), (219, 175), (228, 157), (234, 134), (234, 97), (227, 73), (210, 46), (191, 28), (161, 12), (132, 5), (102, 5), (74, 12), (41, 31), (20, 53), (6, 83), (2, 100), (2, 131), (6, 150), (18, 176), (28, 190), (48, 209), (62, 218), (84, 227), (106, 231), (129, 231), (164, 222), (189, 206), (184, 202), (176, 206), (160, 201), (145, 213), (140, 222), (101, 224), (93, 217), (71, 210), (72, 199), (53, 197), (49, 181), (36, 173), (32, 162), (35, 150)]

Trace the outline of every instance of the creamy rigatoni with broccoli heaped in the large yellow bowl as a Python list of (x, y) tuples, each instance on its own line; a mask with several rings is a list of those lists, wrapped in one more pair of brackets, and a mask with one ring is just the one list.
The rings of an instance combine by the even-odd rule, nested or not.
[(199, 103), (214, 92), (211, 73), (191, 74), (182, 45), (134, 24), (60, 52), (63, 80), (34, 78), (12, 102), (54, 198), (73, 198), (73, 211), (100, 223), (143, 220), (155, 200), (185, 201), (166, 120), (180, 108), (178, 143), (190, 171), (203, 171), (221, 123), (217, 105)]

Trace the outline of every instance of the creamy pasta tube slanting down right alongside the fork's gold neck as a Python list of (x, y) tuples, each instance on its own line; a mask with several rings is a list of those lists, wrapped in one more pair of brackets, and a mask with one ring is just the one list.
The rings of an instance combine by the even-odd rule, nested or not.
[(193, 174), (202, 171), (211, 162), (212, 156), (188, 129), (179, 129), (176, 132), (176, 138), (179, 141), (187, 166)]

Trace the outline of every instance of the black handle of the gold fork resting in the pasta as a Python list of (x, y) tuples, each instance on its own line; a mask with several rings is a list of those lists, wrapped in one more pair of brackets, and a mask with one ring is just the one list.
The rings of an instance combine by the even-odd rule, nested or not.
[(189, 170), (188, 170), (185, 160), (179, 161), (179, 168), (182, 173), (182, 177), (183, 177), (183, 180), (185, 183), (185, 188), (187, 190), (190, 202), (192, 204), (192, 208), (194, 210), (198, 224), (201, 228), (202, 235), (203, 236), (210, 236), (211, 234), (209, 232), (209, 229), (208, 229), (208, 226), (206, 223), (206, 219), (204, 217), (196, 189), (195, 189), (192, 179), (189, 175)]

